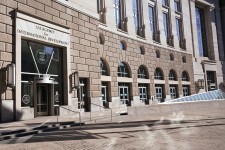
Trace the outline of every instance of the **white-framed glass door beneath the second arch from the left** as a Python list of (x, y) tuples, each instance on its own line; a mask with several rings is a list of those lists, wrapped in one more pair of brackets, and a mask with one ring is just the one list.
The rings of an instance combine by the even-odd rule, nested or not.
[(129, 102), (129, 84), (119, 83), (120, 103), (128, 105)]

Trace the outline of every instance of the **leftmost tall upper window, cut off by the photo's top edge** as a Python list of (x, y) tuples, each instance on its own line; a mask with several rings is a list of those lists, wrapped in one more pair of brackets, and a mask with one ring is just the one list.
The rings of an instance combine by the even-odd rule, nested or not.
[(99, 20), (101, 23), (106, 23), (106, 8), (105, 8), (105, 0), (97, 0), (97, 8), (99, 14)]

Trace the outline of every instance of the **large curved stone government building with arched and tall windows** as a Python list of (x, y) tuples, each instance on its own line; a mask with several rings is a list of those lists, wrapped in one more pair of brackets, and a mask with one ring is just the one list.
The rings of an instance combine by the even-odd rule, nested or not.
[(1, 0), (0, 122), (219, 89), (223, 0)]

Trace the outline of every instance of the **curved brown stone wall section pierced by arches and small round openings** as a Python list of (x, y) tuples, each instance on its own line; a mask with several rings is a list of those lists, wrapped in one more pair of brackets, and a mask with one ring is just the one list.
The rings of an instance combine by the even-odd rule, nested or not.
[[(183, 71), (187, 71), (190, 76), (191, 93), (195, 93), (193, 81), (193, 65), (192, 55), (185, 51), (176, 51), (173, 49), (163, 48), (132, 39), (127, 36), (119, 35), (100, 29), (99, 32), (104, 35), (105, 43), (100, 45), (100, 55), (109, 64), (110, 75), (112, 77), (111, 95), (118, 96), (117, 68), (120, 62), (125, 62), (132, 74), (132, 96), (139, 96), (137, 70), (140, 65), (147, 68), (150, 79), (150, 95), (155, 95), (154, 72), (157, 67), (161, 68), (165, 79), (166, 95), (169, 95), (169, 71), (175, 70), (178, 76), (179, 95), (182, 95), (181, 75)], [(120, 49), (120, 42), (126, 43), (126, 50)], [(145, 54), (140, 52), (140, 46), (145, 49)], [(156, 57), (156, 51), (160, 52), (160, 58)], [(170, 60), (170, 54), (174, 55), (174, 61)], [(186, 63), (183, 63), (182, 57), (186, 58)]]

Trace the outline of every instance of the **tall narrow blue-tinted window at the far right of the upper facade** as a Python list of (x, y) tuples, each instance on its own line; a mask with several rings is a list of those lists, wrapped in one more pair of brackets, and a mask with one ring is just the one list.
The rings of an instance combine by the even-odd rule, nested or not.
[(198, 34), (199, 56), (208, 57), (204, 10), (196, 7), (195, 14), (196, 14), (196, 26)]

